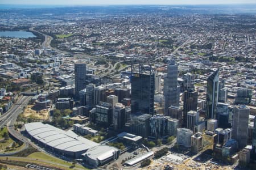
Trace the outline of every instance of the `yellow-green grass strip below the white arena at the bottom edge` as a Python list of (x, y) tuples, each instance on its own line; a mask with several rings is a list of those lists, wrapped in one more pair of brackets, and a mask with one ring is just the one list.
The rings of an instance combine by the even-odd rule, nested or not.
[[(71, 162), (67, 162), (65, 160), (55, 158), (53, 156), (45, 154), (44, 152), (35, 152), (33, 154), (28, 155), (27, 158), (36, 158), (38, 160), (44, 160), (44, 161), (52, 162), (52, 164), (56, 163), (56, 164), (67, 165), (69, 167), (72, 166)], [(86, 169), (86, 168), (82, 167), (81, 165), (76, 165), (76, 167)]]

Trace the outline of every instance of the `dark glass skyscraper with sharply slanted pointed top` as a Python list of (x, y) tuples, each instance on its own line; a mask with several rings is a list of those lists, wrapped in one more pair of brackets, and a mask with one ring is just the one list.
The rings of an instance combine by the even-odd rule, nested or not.
[(207, 104), (205, 118), (216, 118), (218, 102), (218, 74), (219, 70), (214, 71), (207, 79)]

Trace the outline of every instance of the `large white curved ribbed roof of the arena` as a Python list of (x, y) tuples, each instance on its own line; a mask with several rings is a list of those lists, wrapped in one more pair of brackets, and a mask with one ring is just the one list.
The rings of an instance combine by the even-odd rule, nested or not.
[(80, 152), (98, 146), (98, 143), (79, 137), (71, 130), (64, 131), (41, 122), (25, 124), (25, 129), (38, 141), (58, 150)]

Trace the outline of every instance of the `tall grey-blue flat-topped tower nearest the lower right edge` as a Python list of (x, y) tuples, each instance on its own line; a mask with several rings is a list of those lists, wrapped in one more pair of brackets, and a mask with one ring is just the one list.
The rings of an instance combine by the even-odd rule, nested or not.
[(249, 114), (250, 109), (245, 105), (234, 107), (232, 138), (240, 149), (247, 145)]

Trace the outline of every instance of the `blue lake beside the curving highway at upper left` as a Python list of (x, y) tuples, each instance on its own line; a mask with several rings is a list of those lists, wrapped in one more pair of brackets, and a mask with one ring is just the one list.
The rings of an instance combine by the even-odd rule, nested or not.
[(0, 31), (0, 37), (14, 37), (27, 39), (36, 36), (32, 32), (27, 31)]

